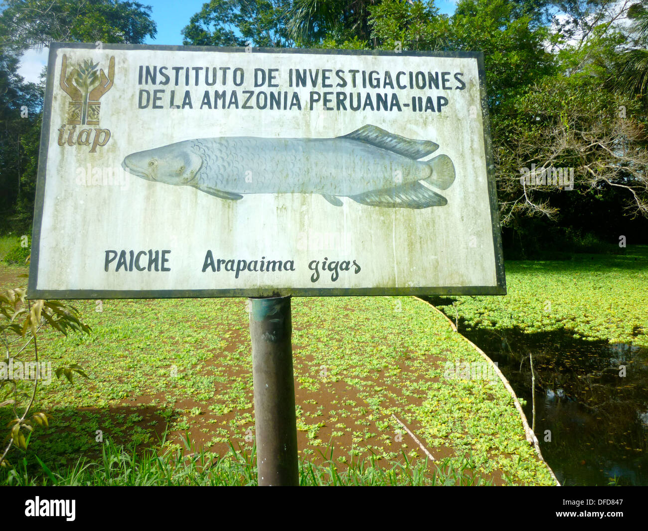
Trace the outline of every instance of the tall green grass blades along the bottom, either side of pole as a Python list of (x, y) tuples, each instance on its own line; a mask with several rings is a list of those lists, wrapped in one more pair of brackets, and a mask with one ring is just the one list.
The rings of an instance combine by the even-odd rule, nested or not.
[[(152, 451), (138, 453), (123, 445), (106, 442), (101, 458), (95, 462), (80, 458), (75, 465), (55, 473), (37, 458), (41, 472), (34, 474), (23, 460), (12, 469), (0, 470), (0, 484), (5, 486), (256, 486), (255, 447), (237, 450), (230, 446), (225, 456), (173, 451), (158, 456)], [(322, 464), (305, 458), (299, 460), (300, 486), (480, 486), (489, 485), (474, 475), (475, 464), (465, 458), (459, 466), (445, 458), (434, 466), (428, 460), (411, 462), (406, 454), (402, 462), (377, 466), (375, 456), (354, 459), (341, 470), (329, 456)]]

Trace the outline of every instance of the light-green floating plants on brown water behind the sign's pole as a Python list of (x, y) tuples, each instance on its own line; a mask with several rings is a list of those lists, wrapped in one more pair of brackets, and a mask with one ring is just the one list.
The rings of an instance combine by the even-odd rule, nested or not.
[[(0, 269), (0, 276), (20, 269)], [(20, 279), (24, 281), (25, 279)], [(6, 282), (5, 282), (6, 287)], [(253, 394), (244, 299), (76, 301), (90, 337), (48, 333), (41, 359), (78, 362), (91, 376), (53, 379), (34, 410), (54, 415), (38, 429), (27, 466), (64, 470), (80, 457), (100, 460), (98, 438), (157, 455), (195, 447), (219, 456), (251, 450)], [(466, 456), (481, 482), (551, 484), (524, 438), (499, 381), (443, 378), (448, 361), (481, 362), (445, 319), (415, 298), (296, 298), (293, 344), (300, 458), (340, 470), (380, 469), (421, 449), (392, 418), (417, 434), (439, 462), (461, 469)], [(406, 332), (405, 332), (406, 331)], [(0, 414), (0, 421), (8, 417)], [(169, 432), (161, 445), (157, 440)], [(231, 458), (231, 455), (229, 456)], [(371, 461), (373, 459), (373, 461)], [(14, 456), (16, 460), (16, 456)]]

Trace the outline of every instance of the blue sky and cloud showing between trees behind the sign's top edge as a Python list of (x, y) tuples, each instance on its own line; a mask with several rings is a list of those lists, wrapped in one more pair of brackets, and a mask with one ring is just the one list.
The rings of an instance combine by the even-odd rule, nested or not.
[[(148, 38), (146, 44), (180, 45), (180, 32), (189, 23), (191, 16), (200, 11), (205, 0), (140, 0), (140, 3), (152, 7), (151, 16), (157, 24), (156, 38)], [(455, 2), (452, 0), (438, 0), (436, 5), (442, 13), (454, 12)], [(25, 80), (38, 82), (46, 63), (47, 48), (42, 53), (29, 50), (23, 55), (19, 72)]]

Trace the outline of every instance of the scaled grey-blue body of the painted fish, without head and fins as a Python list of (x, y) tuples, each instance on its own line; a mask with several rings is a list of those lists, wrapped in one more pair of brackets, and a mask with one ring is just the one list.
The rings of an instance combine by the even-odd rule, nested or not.
[[(311, 191), (355, 195), (429, 176), (424, 163), (353, 139), (197, 139), (203, 158), (198, 182), (233, 193)], [(333, 158), (336, 156), (336, 158)], [(305, 172), (303, 167), (314, 168)], [(364, 178), (349, 177), (364, 174)]]

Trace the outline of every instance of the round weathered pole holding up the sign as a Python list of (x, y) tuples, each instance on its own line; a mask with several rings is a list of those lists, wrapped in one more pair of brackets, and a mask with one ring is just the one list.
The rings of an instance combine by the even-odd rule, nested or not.
[(259, 485), (297, 486), (290, 297), (248, 301)]

